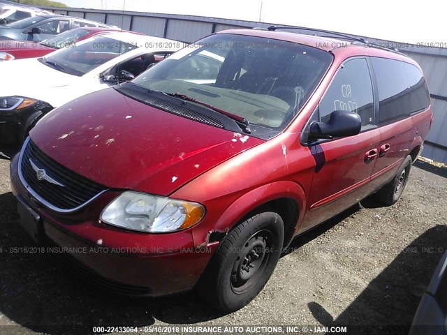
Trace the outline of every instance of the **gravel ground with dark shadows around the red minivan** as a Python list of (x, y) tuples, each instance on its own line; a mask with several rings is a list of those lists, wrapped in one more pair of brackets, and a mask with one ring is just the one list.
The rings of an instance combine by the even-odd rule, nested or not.
[[(9, 162), (1, 161), (0, 334), (92, 333), (59, 325), (136, 326), (139, 334), (163, 325), (344, 325), (349, 334), (406, 334), (447, 247), (445, 169), (417, 165), (397, 204), (364, 200), (295, 239), (261, 294), (223, 315), (193, 292), (120, 297), (66, 273), (51, 255), (14, 252), (34, 242), (17, 223)], [(389, 325), (400, 327), (381, 328)]]

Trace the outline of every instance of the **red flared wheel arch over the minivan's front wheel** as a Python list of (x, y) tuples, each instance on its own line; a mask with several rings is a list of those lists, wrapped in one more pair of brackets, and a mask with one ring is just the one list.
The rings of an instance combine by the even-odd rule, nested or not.
[(298, 223), (302, 221), (302, 217), (306, 208), (306, 196), (300, 185), (293, 181), (275, 181), (265, 184), (254, 190), (242, 195), (230, 204), (218, 221), (214, 223), (212, 230), (208, 228), (210, 225), (198, 225), (193, 229), (193, 241), (196, 246), (202, 246), (209, 243), (210, 234), (212, 232), (225, 232), (231, 230), (238, 222), (251, 211), (261, 207), (263, 204), (279, 198), (290, 198), (298, 206), (298, 221), (295, 223), (294, 230), (298, 228)]

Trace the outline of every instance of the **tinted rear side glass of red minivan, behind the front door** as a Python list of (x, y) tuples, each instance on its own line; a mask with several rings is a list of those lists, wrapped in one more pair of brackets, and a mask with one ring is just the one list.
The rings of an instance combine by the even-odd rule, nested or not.
[(409, 117), (430, 105), (420, 70), (395, 59), (371, 57), (379, 91), (379, 126)]

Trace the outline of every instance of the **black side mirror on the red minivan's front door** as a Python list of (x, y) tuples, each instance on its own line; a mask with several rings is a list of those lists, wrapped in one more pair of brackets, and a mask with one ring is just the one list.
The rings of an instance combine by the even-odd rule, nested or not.
[(360, 133), (362, 120), (357, 113), (335, 110), (326, 122), (312, 122), (309, 136), (312, 138), (333, 138), (353, 136)]

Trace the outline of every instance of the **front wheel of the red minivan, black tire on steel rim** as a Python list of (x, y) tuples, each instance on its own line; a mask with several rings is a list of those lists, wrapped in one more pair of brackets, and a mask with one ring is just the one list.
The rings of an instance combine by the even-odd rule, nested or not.
[(197, 285), (199, 294), (226, 313), (237, 311), (258, 295), (277, 265), (284, 242), (278, 214), (257, 214), (223, 239)]

